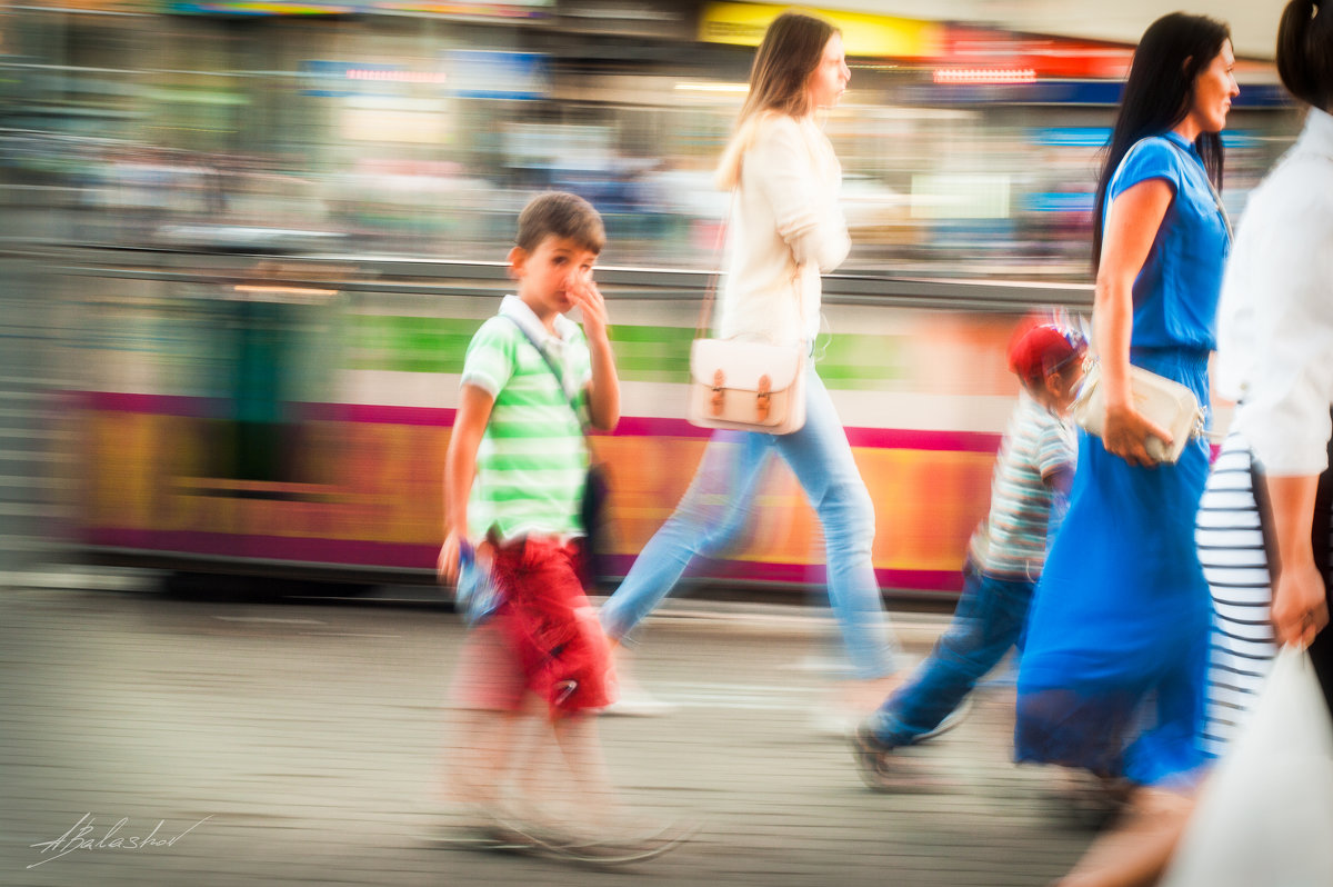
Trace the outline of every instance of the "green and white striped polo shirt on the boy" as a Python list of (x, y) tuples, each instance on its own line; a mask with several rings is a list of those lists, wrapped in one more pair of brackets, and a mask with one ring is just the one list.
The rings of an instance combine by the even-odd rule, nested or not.
[[(580, 416), (515, 321), (541, 343), (577, 391)], [(580, 420), (587, 416), (592, 363), (579, 324), (559, 316), (556, 333), (547, 333), (520, 299), (505, 296), (499, 316), (481, 324), (468, 344), (461, 384), (477, 385), (495, 397), (468, 500), (468, 534), (473, 538), (492, 528), (501, 539), (584, 534), (580, 512), (588, 444)]]

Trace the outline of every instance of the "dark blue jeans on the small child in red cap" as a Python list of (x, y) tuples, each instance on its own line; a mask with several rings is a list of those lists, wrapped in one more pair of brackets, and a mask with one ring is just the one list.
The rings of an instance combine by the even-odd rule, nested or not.
[(1018, 643), (1033, 582), (964, 570), (962, 596), (949, 630), (905, 684), (870, 716), (877, 739), (910, 746), (940, 726), (988, 671)]

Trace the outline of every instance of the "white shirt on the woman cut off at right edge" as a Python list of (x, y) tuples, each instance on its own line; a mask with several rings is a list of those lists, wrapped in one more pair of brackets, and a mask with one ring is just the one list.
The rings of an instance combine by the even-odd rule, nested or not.
[(1217, 312), (1217, 391), (1269, 475), (1328, 467), (1333, 404), (1333, 117), (1250, 196)]

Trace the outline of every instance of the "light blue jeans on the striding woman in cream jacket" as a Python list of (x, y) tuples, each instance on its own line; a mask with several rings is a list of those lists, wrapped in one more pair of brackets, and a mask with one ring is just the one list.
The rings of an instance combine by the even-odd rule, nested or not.
[(888, 620), (870, 562), (874, 506), (852, 459), (833, 400), (810, 367), (805, 425), (789, 435), (716, 432), (694, 480), (666, 523), (644, 546), (629, 575), (601, 608), (612, 638), (623, 638), (670, 594), (696, 555), (724, 551), (754, 507), (754, 490), (776, 451), (800, 482), (824, 527), (829, 602), (857, 678), (894, 670)]

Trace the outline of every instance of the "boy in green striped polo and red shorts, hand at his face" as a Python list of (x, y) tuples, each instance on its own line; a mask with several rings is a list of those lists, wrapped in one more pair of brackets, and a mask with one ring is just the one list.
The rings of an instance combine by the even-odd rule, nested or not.
[[(468, 345), (445, 455), (440, 579), (457, 579), (468, 546), (489, 560), (503, 595), (475, 635), (484, 655), (464, 663), (475, 680), (459, 755), (460, 800), (492, 823), (509, 820), (500, 808), (515, 762), (544, 756), (517, 748), (527, 732), (520, 714), (532, 700), (545, 707), (579, 792), (577, 827), (600, 831), (611, 812), (591, 716), (612, 702), (611, 659), (579, 579), (589, 459), (583, 423), (609, 429), (620, 417), (607, 305), (592, 281), (604, 243), (601, 217), (581, 197), (547, 193), (524, 208), (509, 251), (517, 295), (504, 297)], [(583, 313), (581, 329), (564, 316), (572, 308)], [(529, 787), (545, 775), (529, 774)], [(573, 846), (575, 828), (547, 824), (545, 843)]]

